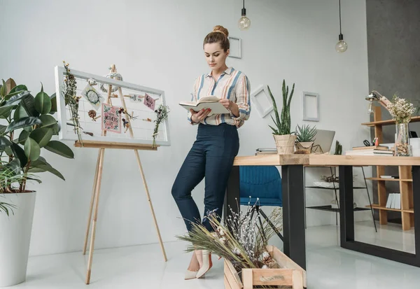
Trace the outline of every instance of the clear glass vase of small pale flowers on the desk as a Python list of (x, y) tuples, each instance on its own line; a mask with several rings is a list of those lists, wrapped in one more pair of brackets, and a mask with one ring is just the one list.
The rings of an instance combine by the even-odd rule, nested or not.
[(386, 108), (395, 120), (395, 155), (409, 157), (412, 150), (409, 145), (408, 123), (415, 108), (407, 99), (400, 99), (396, 94)]

